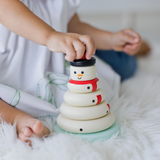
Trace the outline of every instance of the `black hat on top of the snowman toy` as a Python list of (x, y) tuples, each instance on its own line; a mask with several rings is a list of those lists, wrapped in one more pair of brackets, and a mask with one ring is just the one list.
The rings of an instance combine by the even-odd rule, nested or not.
[(86, 66), (93, 66), (96, 63), (96, 59), (92, 57), (91, 59), (76, 59), (72, 62), (70, 62), (71, 66), (76, 66), (76, 67), (86, 67)]

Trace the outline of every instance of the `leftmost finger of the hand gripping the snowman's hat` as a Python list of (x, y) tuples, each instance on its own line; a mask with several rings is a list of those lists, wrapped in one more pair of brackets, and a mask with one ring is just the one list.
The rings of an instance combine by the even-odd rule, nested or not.
[(72, 45), (69, 45), (66, 48), (66, 56), (65, 59), (67, 61), (73, 61), (76, 59), (76, 51), (74, 50), (74, 47)]

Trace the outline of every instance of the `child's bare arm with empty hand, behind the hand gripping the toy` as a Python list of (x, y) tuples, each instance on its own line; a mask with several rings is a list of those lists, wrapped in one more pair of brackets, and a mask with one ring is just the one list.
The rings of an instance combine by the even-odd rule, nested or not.
[(116, 51), (125, 51), (130, 55), (138, 51), (141, 41), (139, 34), (132, 29), (111, 33), (81, 22), (77, 14), (70, 20), (68, 31), (90, 35), (94, 39), (97, 49), (114, 49)]

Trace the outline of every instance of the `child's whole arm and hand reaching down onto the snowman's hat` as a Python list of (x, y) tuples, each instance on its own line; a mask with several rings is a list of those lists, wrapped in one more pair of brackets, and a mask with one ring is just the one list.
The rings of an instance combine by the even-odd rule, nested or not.
[(56, 32), (19, 0), (0, 0), (0, 23), (17, 35), (47, 46), (51, 51), (66, 53), (65, 58), (69, 61), (81, 58), (85, 50), (88, 59), (95, 52), (90, 36)]

